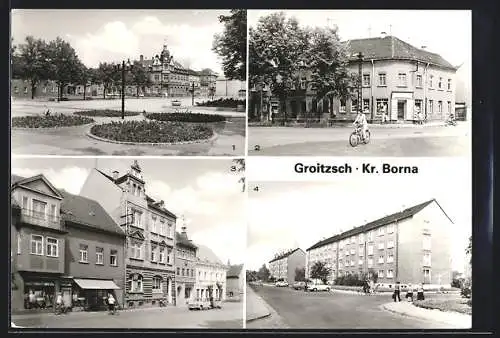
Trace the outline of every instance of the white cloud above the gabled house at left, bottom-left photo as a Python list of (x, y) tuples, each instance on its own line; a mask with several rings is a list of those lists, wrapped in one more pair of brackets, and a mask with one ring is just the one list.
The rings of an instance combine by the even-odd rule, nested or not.
[[(12, 173), (30, 177), (39, 175), (41, 170), (32, 170), (26, 168), (12, 168)], [(43, 170), (43, 175), (52, 183), (56, 188), (64, 189), (72, 194), (79, 194), (80, 189), (87, 178), (89, 171), (80, 167), (64, 167), (62, 169)]]

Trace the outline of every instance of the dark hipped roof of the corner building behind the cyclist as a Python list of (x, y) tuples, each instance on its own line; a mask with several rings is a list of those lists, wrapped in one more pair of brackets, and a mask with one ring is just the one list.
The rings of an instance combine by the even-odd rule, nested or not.
[(428, 52), (404, 42), (394, 36), (384, 38), (354, 39), (345, 42), (349, 45), (351, 59), (355, 60), (352, 54), (363, 53), (364, 59), (400, 59), (417, 60), (433, 65), (456, 70), (451, 63), (446, 61), (441, 55)]

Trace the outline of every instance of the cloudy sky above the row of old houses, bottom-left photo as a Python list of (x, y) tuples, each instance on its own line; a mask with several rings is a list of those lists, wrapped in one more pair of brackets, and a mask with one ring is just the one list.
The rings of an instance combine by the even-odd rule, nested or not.
[[(97, 164), (96, 164), (97, 161)], [(29, 177), (44, 174), (56, 187), (79, 194), (89, 172), (97, 167), (112, 175), (124, 173), (134, 158), (12, 158), (12, 173)], [(226, 263), (242, 264), (246, 249), (246, 194), (232, 160), (138, 159), (146, 194), (165, 201), (178, 219), (184, 215), (187, 233), (208, 246)], [(182, 222), (178, 220), (180, 231)]]

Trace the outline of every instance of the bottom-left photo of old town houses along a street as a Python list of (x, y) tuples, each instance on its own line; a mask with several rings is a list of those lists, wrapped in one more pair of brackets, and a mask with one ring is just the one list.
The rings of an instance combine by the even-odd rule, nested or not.
[(14, 158), (12, 327), (242, 328), (243, 169)]

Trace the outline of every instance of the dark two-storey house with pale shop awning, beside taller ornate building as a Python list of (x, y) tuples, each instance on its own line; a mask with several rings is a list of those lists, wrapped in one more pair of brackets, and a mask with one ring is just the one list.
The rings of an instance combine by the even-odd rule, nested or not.
[(60, 190), (61, 217), (66, 235), (65, 274), (74, 283), (68, 305), (86, 309), (105, 307), (112, 293), (122, 306), (125, 289), (125, 232), (94, 200)]

